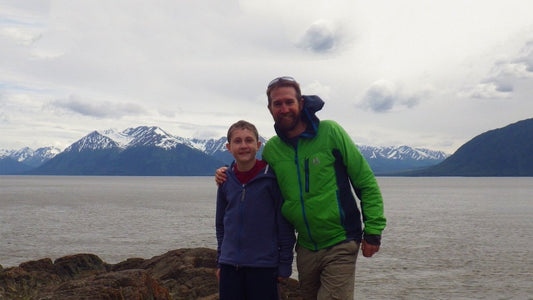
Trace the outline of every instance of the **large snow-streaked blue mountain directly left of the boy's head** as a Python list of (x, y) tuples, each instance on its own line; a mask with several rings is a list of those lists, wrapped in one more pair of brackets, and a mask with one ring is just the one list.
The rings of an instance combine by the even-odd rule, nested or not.
[[(222, 162), (159, 127), (93, 131), (30, 174), (206, 176)], [(196, 143), (204, 147), (202, 143)]]

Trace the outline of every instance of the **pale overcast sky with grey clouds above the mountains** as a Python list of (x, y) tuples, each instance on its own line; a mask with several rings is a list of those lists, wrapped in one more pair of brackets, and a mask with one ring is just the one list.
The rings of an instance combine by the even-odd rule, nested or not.
[(93, 130), (274, 134), (291, 75), (357, 144), (453, 153), (533, 117), (530, 0), (0, 0), (0, 148)]

